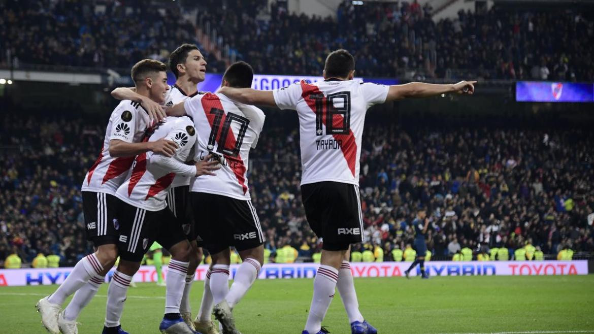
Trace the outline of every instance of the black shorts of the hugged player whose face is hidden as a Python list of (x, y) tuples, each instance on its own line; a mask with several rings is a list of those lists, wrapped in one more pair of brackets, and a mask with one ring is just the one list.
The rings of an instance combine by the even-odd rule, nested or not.
[(165, 208), (149, 211), (118, 199), (119, 239), (121, 259), (140, 262), (157, 241), (169, 250), (180, 241), (187, 240), (175, 216)]

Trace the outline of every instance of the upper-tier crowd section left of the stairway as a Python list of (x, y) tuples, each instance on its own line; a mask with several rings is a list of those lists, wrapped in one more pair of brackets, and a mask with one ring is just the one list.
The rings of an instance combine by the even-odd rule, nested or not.
[[(180, 7), (149, 10), (143, 1), (2, 1), (0, 24), (0, 65), (9, 51), (15, 67), (130, 68), (143, 58), (166, 62), (181, 43), (197, 43)], [(208, 58), (210, 71), (225, 70)]]

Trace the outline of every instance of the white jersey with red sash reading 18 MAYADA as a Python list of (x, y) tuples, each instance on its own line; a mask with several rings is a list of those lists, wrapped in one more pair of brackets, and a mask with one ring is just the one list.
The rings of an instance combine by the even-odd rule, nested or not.
[(359, 184), (361, 136), (367, 109), (386, 101), (388, 86), (360, 80), (305, 81), (274, 90), (280, 109), (299, 115), (301, 184)]

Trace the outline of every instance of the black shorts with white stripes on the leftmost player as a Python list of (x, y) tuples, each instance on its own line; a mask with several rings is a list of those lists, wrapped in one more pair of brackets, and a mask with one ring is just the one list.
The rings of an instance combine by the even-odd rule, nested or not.
[(118, 198), (113, 195), (83, 191), (83, 213), (84, 224), (87, 227), (87, 240), (93, 241), (95, 247), (118, 243), (117, 206)]

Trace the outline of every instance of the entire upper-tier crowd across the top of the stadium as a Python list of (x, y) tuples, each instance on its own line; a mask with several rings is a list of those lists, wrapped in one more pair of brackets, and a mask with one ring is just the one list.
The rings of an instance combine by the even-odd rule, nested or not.
[[(148, 11), (139, 1), (126, 7), (118, 1), (25, 2), (0, 3), (0, 24), (7, 28), (0, 31), (0, 49), (20, 63), (129, 67), (141, 58), (166, 59), (180, 43), (196, 42), (196, 27), (181, 12), (197, 9), (196, 24), (216, 29), (216, 42), (256, 73), (319, 74), (330, 50), (345, 48), (364, 77), (422, 69), (419, 75), (427, 78), (594, 78), (594, 46), (580, 43), (594, 37), (593, 18), (570, 8), (510, 12), (495, 5), (434, 22), (432, 8), (416, 0), (345, 1), (336, 19), (289, 14), (283, 2), (273, 2), (269, 20), (258, 15), (267, 12), (263, 0), (207, 0), (162, 11)], [(0, 64), (7, 60), (0, 54)], [(208, 61), (209, 71), (224, 70), (222, 62)]]

